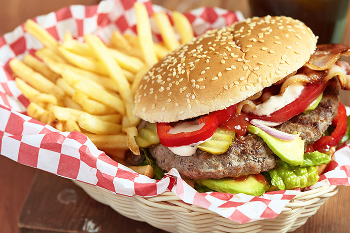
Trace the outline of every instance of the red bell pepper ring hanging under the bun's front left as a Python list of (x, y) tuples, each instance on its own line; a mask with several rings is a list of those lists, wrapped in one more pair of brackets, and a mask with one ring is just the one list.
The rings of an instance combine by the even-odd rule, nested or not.
[(212, 137), (218, 126), (227, 121), (237, 109), (237, 104), (226, 109), (218, 110), (204, 115), (198, 119), (198, 125), (204, 123), (203, 127), (193, 132), (180, 132), (177, 134), (168, 133), (172, 128), (170, 123), (157, 123), (157, 134), (162, 145), (168, 147), (190, 145), (204, 141)]

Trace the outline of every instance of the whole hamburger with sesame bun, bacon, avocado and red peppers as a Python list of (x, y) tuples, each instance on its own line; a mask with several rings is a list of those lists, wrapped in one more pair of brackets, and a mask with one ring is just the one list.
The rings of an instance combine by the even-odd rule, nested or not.
[(214, 190), (251, 176), (269, 180), (263, 191), (309, 186), (345, 140), (339, 90), (349, 89), (350, 68), (337, 60), (348, 51), (317, 47), (304, 23), (285, 16), (209, 30), (141, 80), (134, 113), (144, 136), (136, 141), (163, 171)]

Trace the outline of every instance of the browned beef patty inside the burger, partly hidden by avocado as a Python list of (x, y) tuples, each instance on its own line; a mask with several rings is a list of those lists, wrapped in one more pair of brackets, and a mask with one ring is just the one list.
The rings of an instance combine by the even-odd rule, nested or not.
[[(300, 132), (305, 144), (318, 140), (336, 115), (340, 85), (333, 79), (327, 85), (319, 106), (308, 114), (299, 114), (277, 129)], [(256, 135), (235, 137), (225, 153), (211, 154), (197, 149), (193, 156), (178, 156), (159, 144), (150, 148), (158, 166), (164, 171), (176, 168), (190, 179), (219, 179), (258, 174), (275, 167), (274, 154), (266, 143)]]

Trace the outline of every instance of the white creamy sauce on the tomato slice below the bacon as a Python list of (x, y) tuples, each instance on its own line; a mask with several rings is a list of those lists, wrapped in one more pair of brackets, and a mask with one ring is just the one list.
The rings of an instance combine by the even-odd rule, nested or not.
[(304, 83), (297, 82), (291, 84), (283, 94), (274, 95), (265, 102), (258, 104), (256, 109), (252, 109), (249, 105), (244, 106), (245, 112), (254, 113), (256, 115), (270, 115), (271, 113), (292, 103), (301, 94), (304, 89)]

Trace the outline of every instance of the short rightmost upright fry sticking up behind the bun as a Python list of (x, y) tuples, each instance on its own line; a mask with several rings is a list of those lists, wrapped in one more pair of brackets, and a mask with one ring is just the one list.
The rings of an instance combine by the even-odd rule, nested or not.
[(174, 26), (180, 35), (181, 43), (186, 44), (194, 37), (193, 29), (188, 18), (177, 11), (171, 12), (171, 18), (174, 22)]

